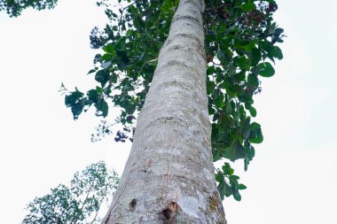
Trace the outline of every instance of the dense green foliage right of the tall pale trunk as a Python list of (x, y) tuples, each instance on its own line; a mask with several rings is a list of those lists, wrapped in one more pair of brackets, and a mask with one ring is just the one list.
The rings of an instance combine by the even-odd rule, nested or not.
[[(278, 9), (275, 1), (206, 1), (205, 35), (208, 58), (208, 111), (212, 123), (214, 161), (227, 158), (244, 160), (247, 170), (255, 157), (252, 143), (262, 143), (261, 126), (253, 97), (262, 91), (261, 77), (271, 77), (271, 63), (282, 59), (276, 45), (283, 42), (283, 29), (273, 21)], [(217, 170), (221, 196), (240, 200), (239, 177), (232, 175), (225, 163)], [(227, 182), (225, 180), (228, 180)]]

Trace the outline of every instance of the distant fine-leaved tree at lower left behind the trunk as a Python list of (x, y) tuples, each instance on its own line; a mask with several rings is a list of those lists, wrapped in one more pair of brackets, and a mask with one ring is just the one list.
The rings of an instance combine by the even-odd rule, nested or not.
[[(59, 184), (51, 193), (35, 197), (27, 205), (29, 213), (23, 224), (93, 224), (99, 223), (99, 211), (114, 196), (118, 174), (108, 172), (104, 162), (76, 172), (70, 187)], [(100, 212), (100, 215), (102, 213)]]

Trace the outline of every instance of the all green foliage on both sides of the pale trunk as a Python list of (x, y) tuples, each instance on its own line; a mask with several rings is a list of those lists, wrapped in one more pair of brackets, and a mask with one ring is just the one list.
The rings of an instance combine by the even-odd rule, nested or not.
[[(117, 6), (118, 12), (111, 2), (98, 2), (110, 22), (103, 30), (95, 27), (90, 35), (91, 46), (103, 49), (89, 72), (99, 86), (85, 94), (78, 89), (68, 92), (66, 105), (74, 119), (91, 105), (104, 118), (108, 104), (121, 107), (116, 121), (126, 131), (118, 131), (115, 140), (125, 141), (132, 139), (129, 134), (134, 132), (178, 0), (119, 0), (126, 6)], [(243, 159), (247, 170), (255, 156), (252, 143), (263, 142), (261, 126), (252, 121), (257, 115), (253, 97), (262, 91), (261, 78), (274, 75), (275, 59), (283, 58), (276, 44), (283, 42), (284, 30), (272, 18), (277, 9), (274, 0), (206, 0), (207, 94), (215, 162)], [(218, 169), (216, 174), (221, 196), (239, 200), (239, 189), (245, 188), (238, 176), (227, 172), (231, 166), (224, 166), (226, 171)]]

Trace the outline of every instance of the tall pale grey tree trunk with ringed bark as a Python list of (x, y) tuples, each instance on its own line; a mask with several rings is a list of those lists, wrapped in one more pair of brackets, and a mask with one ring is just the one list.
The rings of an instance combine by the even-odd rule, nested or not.
[(102, 223), (226, 223), (216, 189), (201, 13), (181, 0)]

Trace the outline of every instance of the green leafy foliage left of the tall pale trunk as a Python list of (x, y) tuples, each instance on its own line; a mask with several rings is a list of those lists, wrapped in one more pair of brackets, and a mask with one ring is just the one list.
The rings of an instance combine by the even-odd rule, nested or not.
[[(124, 127), (116, 133), (115, 140), (125, 142), (133, 139), (137, 112), (145, 102), (178, 1), (119, 1), (124, 6), (113, 2), (98, 2), (98, 6), (105, 7), (109, 23), (103, 30), (94, 27), (90, 34), (91, 47), (103, 50), (94, 58), (95, 66), (88, 73), (98, 86), (86, 93), (68, 91), (66, 105), (74, 120), (91, 105), (103, 118), (108, 114), (108, 104), (120, 107), (117, 122)], [(111, 133), (107, 126), (101, 127)]]

